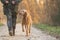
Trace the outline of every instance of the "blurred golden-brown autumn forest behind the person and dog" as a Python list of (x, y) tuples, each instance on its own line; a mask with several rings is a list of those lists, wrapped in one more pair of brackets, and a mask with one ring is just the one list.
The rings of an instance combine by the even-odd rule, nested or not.
[[(28, 10), (32, 15), (34, 23), (60, 25), (59, 4), (59, 0), (39, 0), (39, 2), (36, 0), (23, 0), (19, 4), (18, 10)], [(0, 17), (4, 19), (2, 4), (0, 3), (0, 5)]]

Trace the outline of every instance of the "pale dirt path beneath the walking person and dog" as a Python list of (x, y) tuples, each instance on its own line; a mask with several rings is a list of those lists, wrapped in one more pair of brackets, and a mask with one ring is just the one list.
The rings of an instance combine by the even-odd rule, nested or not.
[[(28, 37), (30, 40), (57, 40), (50, 35), (43, 33), (42, 31), (32, 27), (31, 35)], [(0, 40), (27, 40), (25, 33), (21, 31), (21, 25), (16, 25), (16, 35), (9, 36), (7, 26), (0, 27)]]

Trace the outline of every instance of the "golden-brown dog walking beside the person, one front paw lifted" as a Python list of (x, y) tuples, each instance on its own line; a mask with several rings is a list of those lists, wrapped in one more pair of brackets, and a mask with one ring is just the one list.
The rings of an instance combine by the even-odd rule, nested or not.
[[(27, 12), (27, 10), (21, 10), (19, 12), (20, 15), (23, 16), (22, 18), (22, 31), (26, 31), (26, 36), (29, 36), (30, 34), (30, 28), (32, 25), (32, 18), (31, 15)], [(25, 28), (25, 30), (24, 30)]]

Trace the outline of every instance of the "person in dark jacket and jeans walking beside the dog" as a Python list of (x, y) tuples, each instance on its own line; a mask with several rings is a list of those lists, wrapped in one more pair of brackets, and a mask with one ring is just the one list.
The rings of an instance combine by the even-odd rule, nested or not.
[(4, 15), (6, 15), (7, 17), (7, 26), (10, 36), (15, 35), (16, 18), (17, 18), (16, 6), (21, 1), (22, 0), (1, 0), (3, 4)]

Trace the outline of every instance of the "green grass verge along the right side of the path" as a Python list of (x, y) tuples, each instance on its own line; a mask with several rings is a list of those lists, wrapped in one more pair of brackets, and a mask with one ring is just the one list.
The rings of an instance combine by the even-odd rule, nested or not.
[(45, 31), (46, 33), (56, 37), (60, 38), (60, 26), (50, 26), (46, 24), (35, 24), (35, 27)]

